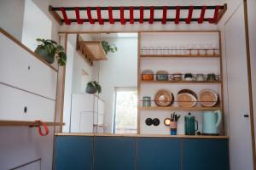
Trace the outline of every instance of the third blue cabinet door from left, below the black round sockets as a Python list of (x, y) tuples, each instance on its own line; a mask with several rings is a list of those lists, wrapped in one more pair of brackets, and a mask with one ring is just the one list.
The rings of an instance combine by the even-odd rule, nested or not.
[(180, 139), (138, 138), (137, 170), (179, 170)]

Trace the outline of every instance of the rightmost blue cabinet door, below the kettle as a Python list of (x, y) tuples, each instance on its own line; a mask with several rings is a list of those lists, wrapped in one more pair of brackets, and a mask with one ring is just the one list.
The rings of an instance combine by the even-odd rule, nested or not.
[(228, 139), (184, 139), (184, 170), (229, 170)]

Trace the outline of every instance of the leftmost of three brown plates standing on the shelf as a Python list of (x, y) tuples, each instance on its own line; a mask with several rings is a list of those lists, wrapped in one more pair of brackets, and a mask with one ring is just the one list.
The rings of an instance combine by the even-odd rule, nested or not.
[(160, 89), (155, 95), (154, 95), (154, 103), (160, 107), (167, 107), (169, 105), (172, 105), (174, 101), (174, 96), (171, 91)]

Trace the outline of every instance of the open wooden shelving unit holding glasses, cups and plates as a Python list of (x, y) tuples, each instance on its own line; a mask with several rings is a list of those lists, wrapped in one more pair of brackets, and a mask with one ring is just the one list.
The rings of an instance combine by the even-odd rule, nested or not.
[[(185, 32), (185, 31), (183, 31)], [(183, 32), (179, 32), (179, 33), (183, 33)], [(218, 36), (218, 38), (216, 37), (216, 42), (218, 42), (218, 45), (217, 45), (217, 48), (213, 48), (211, 50), (218, 50), (218, 52), (213, 52), (213, 54), (160, 54), (160, 53), (166, 53), (166, 52), (159, 52), (157, 50), (148, 50), (147, 49), (141, 49), (142, 47), (146, 47), (146, 48), (149, 48), (149, 47), (153, 47), (153, 48), (157, 48), (157, 47), (165, 47), (166, 45), (172, 45), (172, 44), (167, 44), (166, 40), (164, 42), (166, 42), (166, 44), (162, 44), (161, 42), (158, 43), (158, 40), (155, 39), (155, 40), (152, 40), (152, 42), (148, 42), (148, 38), (150, 37), (147, 37), (148, 35), (150, 36), (150, 34), (152, 33), (153, 35), (153, 38), (156, 38), (158, 37), (158, 33), (161, 35), (162, 38), (165, 38), (166, 36), (166, 33), (171, 33), (172, 35), (172, 31), (165, 31), (165, 32), (140, 32), (139, 34), (139, 38), (138, 38), (138, 48), (140, 49), (139, 52), (138, 52), (138, 80), (137, 80), (137, 91), (138, 91), (138, 107), (137, 107), (137, 133), (138, 134), (141, 134), (141, 120), (140, 120), (140, 117), (141, 117), (141, 114), (147, 114), (146, 111), (155, 111), (158, 115), (161, 114), (161, 111), (198, 111), (199, 114), (200, 112), (203, 112), (203, 111), (222, 111), (222, 113), (224, 114), (224, 89), (223, 89), (223, 80), (222, 80), (222, 77), (223, 77), (223, 71), (222, 71), (222, 49), (221, 49), (221, 37), (220, 37), (220, 31), (212, 31), (212, 33), (216, 33), (216, 36)], [(177, 32), (174, 32), (174, 33), (177, 33)], [(188, 33), (188, 32), (187, 32)], [(204, 33), (209, 33), (209, 31), (189, 31), (190, 34), (204, 34)], [(163, 36), (164, 35), (164, 36)], [(145, 40), (143, 39), (143, 36), (145, 36)], [(167, 38), (167, 37), (166, 37)], [(176, 37), (177, 38), (177, 37)], [(143, 42), (145, 41), (145, 42)], [(161, 41), (161, 40), (160, 40)], [(190, 40), (191, 41), (191, 40)], [(196, 41), (195, 41), (196, 42)], [(200, 42), (197, 41), (197, 42)], [(173, 41), (172, 41), (173, 43)], [(175, 42), (174, 42), (175, 43)], [(194, 42), (193, 42), (194, 43)], [(150, 44), (150, 45), (148, 45)], [(148, 45), (148, 46), (147, 46)], [(189, 50), (189, 49), (187, 49)], [(192, 49), (193, 50), (193, 49)], [(196, 49), (196, 50), (203, 50), (203, 49)], [(210, 49), (205, 49), (205, 50), (210, 50)], [(143, 54), (142, 54), (143, 53)], [(152, 54), (152, 53), (156, 53), (156, 54)], [(199, 52), (198, 52), (199, 53)], [(219, 74), (218, 76), (221, 78), (221, 80), (219, 81), (172, 81), (172, 80), (168, 80), (168, 81), (156, 81), (155, 79), (153, 81), (143, 81), (141, 78), (142, 78), (142, 72), (143, 70), (153, 70), (153, 68), (151, 67), (148, 67), (147, 65), (143, 65), (143, 62), (146, 62), (147, 64), (149, 62), (152, 62), (151, 60), (154, 60), (157, 61), (157, 62), (162, 62), (160, 59), (166, 59), (166, 62), (168, 62), (169, 60), (167, 59), (175, 59), (175, 61), (177, 62), (176, 59), (182, 59), (181, 62), (187, 62), (186, 59), (206, 59), (206, 62), (208, 61), (213, 61), (211, 59), (218, 59), (218, 61), (214, 61), (214, 65), (216, 65), (216, 67), (218, 67), (218, 71), (219, 71)], [(150, 60), (149, 60), (150, 59)], [(159, 60), (157, 60), (159, 59)], [(210, 59), (210, 60), (207, 60), (207, 59)], [(143, 66), (142, 66), (143, 65)], [(152, 64), (151, 64), (152, 65)], [(152, 65), (154, 66), (154, 65)], [(166, 67), (167, 65), (165, 65), (165, 67), (163, 66), (162, 68), (160, 67), (160, 65), (156, 66), (158, 70), (165, 70), (165, 69), (168, 69), (168, 66)], [(188, 66), (188, 65), (187, 65)], [(143, 70), (142, 70), (142, 67), (143, 67)], [(173, 70), (173, 69), (169, 69), (169, 70)], [(196, 69), (195, 69), (196, 70)], [(215, 70), (215, 69), (213, 69)], [(156, 70), (157, 71), (157, 70)], [(200, 70), (199, 71), (203, 71), (203, 70)], [(169, 72), (169, 74), (172, 74), (174, 73), (175, 71), (173, 72)], [(180, 71), (177, 71), (177, 72), (180, 72)], [(188, 72), (188, 71), (186, 71)], [(155, 73), (155, 71), (154, 71)], [(183, 72), (185, 73), (185, 72)], [(200, 73), (200, 72), (199, 72)], [(210, 72), (209, 72), (210, 73)], [(155, 78), (155, 77), (154, 77)], [(145, 86), (145, 88), (148, 88), (146, 90), (147, 94), (142, 94), (143, 92), (143, 85), (147, 85)], [(212, 87), (212, 85), (214, 86), (218, 86), (218, 93), (219, 93), (219, 100), (221, 101), (219, 103), (218, 106), (214, 106), (214, 107), (203, 107), (203, 106), (195, 106), (195, 107), (189, 107), (189, 108), (183, 108), (183, 107), (179, 107), (179, 106), (176, 106), (176, 105), (172, 105), (172, 106), (168, 106), (168, 107), (160, 107), (160, 106), (157, 106), (157, 105), (151, 105), (149, 107), (143, 107), (142, 104), (142, 97), (143, 96), (151, 96), (152, 98), (152, 94), (148, 94), (148, 90), (149, 89), (153, 89), (151, 87), (154, 87), (154, 86), (159, 86), (160, 87), (164, 87), (166, 88), (167, 86), (166, 85), (181, 85), (181, 87), (184, 88), (184, 86), (188, 86), (188, 89), (189, 89), (189, 86), (193, 86), (193, 85), (202, 85), (203, 87), (207, 87), (208, 85), (210, 87)], [(173, 86), (173, 87), (176, 87), (177, 86)], [(196, 88), (198, 89), (197, 87), (194, 87), (193, 88)], [(172, 88), (171, 88), (172, 89)], [(154, 89), (155, 90), (155, 89)], [(177, 90), (177, 89), (176, 89)], [(153, 103), (151, 103), (153, 104)], [(143, 112), (143, 113), (142, 113)], [(151, 112), (152, 113), (152, 112)], [(145, 116), (145, 115), (144, 115)], [(222, 127), (220, 129), (220, 134), (221, 135), (225, 135), (225, 129), (224, 129), (224, 116), (223, 116), (223, 120), (222, 120)]]

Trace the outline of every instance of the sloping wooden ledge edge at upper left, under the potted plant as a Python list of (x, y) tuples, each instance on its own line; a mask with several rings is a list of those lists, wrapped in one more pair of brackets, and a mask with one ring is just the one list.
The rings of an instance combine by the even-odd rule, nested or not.
[(49, 66), (49, 68), (51, 68), (52, 70), (54, 70), (55, 72), (57, 72), (58, 70), (55, 69), (54, 66), (49, 65), (49, 63), (47, 63), (46, 61), (44, 61), (44, 59), (42, 59), (42, 57), (36, 53), (34, 53), (30, 48), (27, 48), (23, 43), (21, 43), (18, 39), (16, 39), (15, 37), (13, 37), (11, 34), (9, 34), (9, 32), (4, 31), (2, 27), (0, 27), (0, 32), (3, 33), (4, 36), (8, 37), (10, 40), (12, 40), (13, 42), (15, 42), (17, 45), (20, 46), (20, 48), (23, 48), (26, 50), (26, 52), (32, 54), (34, 57), (36, 57), (37, 59), (39, 59), (40, 61), (42, 61), (44, 63), (44, 65)]

